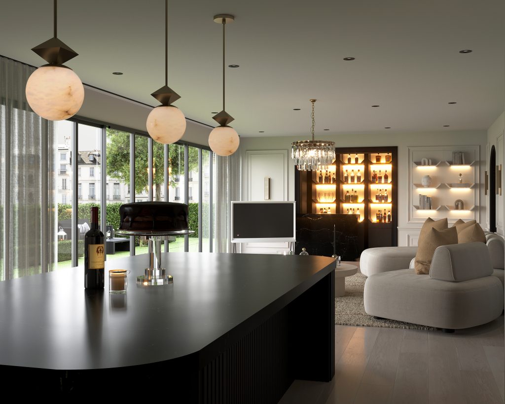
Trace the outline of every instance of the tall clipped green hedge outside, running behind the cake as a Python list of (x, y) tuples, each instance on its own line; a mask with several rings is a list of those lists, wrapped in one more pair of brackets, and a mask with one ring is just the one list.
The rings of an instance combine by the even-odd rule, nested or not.
[[(107, 204), (107, 223), (112, 224), (115, 229), (119, 228), (121, 219), (119, 217), (119, 207), (122, 205), (121, 202), (112, 202)], [(91, 203), (80, 203), (78, 208), (78, 217), (90, 219), (90, 208), (93, 206), (98, 207), (98, 215), (100, 215), (100, 204), (96, 202)], [(209, 203), (203, 202), (203, 221), (202, 229), (204, 235), (209, 235)], [(188, 204), (188, 224), (194, 233), (189, 237), (198, 237), (198, 203), (191, 202)], [(58, 204), (58, 221), (68, 220), (72, 218), (72, 206), (68, 203)], [(120, 237), (120, 236), (118, 236)]]

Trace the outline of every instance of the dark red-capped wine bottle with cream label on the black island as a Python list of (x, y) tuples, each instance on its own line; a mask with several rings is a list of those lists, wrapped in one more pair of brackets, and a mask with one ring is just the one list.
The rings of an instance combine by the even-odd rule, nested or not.
[(105, 279), (104, 234), (98, 228), (98, 207), (91, 208), (91, 228), (84, 235), (84, 287), (103, 289)]

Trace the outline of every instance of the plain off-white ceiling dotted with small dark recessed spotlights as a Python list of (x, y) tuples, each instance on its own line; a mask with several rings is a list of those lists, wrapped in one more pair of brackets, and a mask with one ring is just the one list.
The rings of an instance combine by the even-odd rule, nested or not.
[[(3, 1), (0, 54), (44, 64), (30, 48), (52, 36), (52, 5)], [(170, 0), (168, 84), (186, 117), (205, 124), (221, 110), (219, 13), (235, 15), (226, 65), (240, 68), (227, 68), (226, 110), (241, 136), (307, 137), (309, 98), (319, 138), (485, 130), (505, 108), (503, 0)], [(84, 83), (157, 105), (163, 0), (60, 1), (58, 24)]]

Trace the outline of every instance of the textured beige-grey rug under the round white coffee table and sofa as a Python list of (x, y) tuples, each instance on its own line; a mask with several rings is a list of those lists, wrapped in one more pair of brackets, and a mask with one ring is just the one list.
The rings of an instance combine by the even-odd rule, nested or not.
[(363, 290), (367, 277), (362, 273), (345, 278), (345, 296), (335, 298), (335, 324), (359, 327), (408, 328), (414, 330), (436, 330), (419, 324), (396, 320), (378, 320), (365, 312)]

